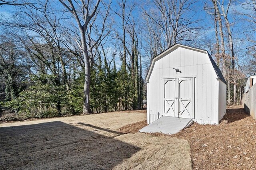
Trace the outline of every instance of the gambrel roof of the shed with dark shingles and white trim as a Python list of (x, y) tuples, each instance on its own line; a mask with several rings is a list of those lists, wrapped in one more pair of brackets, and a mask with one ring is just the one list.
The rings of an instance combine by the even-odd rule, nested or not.
[(208, 53), (207, 50), (205, 49), (199, 49), (199, 48), (194, 48), (194, 47), (190, 47), (190, 46), (187, 46), (187, 45), (182, 45), (182, 44), (174, 44), (172, 45), (171, 47), (169, 47), (168, 49), (164, 50), (162, 53), (156, 55), (155, 57), (152, 58), (151, 60), (151, 63), (150, 63), (150, 66), (149, 66), (149, 69), (148, 69), (148, 73), (147, 73), (147, 76), (146, 76), (146, 82), (148, 82), (149, 80), (149, 77), (150, 77), (150, 74), (152, 72), (152, 69), (154, 67), (154, 63), (156, 61), (156, 59), (158, 59), (159, 57), (162, 57), (165, 53), (167, 53), (168, 51), (174, 49), (175, 47), (184, 47), (184, 48), (187, 48), (187, 49), (192, 49), (192, 50), (195, 50), (195, 51), (200, 51), (200, 52), (203, 52), (203, 53), (206, 53), (212, 63), (212, 66), (214, 68), (214, 71), (218, 77), (218, 79), (220, 79), (223, 83), (227, 84), (225, 79), (224, 79), (224, 76), (222, 75), (221, 71), (220, 71), (220, 68), (218, 67), (218, 65), (215, 63), (214, 59), (212, 59), (211, 55)]

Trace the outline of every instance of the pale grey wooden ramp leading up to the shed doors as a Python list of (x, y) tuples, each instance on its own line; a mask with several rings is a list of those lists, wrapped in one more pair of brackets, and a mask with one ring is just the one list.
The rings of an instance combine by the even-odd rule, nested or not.
[(192, 125), (192, 119), (163, 116), (152, 122), (148, 126), (139, 130), (139, 132), (155, 133), (162, 132), (164, 134), (175, 134), (180, 130)]

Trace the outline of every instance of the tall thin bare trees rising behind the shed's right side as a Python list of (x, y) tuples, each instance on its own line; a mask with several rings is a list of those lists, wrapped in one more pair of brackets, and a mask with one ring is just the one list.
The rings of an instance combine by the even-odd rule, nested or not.
[[(234, 9), (234, 16), (238, 22), (238, 27), (241, 27), (239, 31), (241, 33), (233, 32), (232, 24), (230, 22), (229, 13), (232, 0), (229, 0), (226, 4), (224, 1), (212, 0), (210, 4), (205, 4), (204, 10), (214, 20), (214, 32), (216, 43), (214, 44), (214, 57), (217, 65), (221, 68), (223, 76), (227, 81), (227, 104), (236, 105), (242, 102), (242, 93), (244, 82), (246, 79), (246, 73), (255, 74), (255, 34), (250, 35), (250, 32), (255, 33), (256, 20), (256, 1), (245, 1), (240, 3), (240, 8), (244, 9), (244, 12)], [(236, 7), (238, 8), (238, 7)], [(248, 13), (249, 12), (249, 13)], [(242, 22), (241, 22), (242, 21)], [(239, 24), (240, 23), (240, 24)], [(253, 26), (253, 27), (251, 27)], [(234, 35), (238, 36), (234, 40)], [(241, 42), (251, 42), (246, 45), (247, 51), (239, 50), (238, 45)], [(236, 41), (236, 42), (235, 42)], [(236, 49), (237, 48), (237, 49)], [(239, 57), (239, 55), (246, 55), (246, 57)], [(250, 58), (251, 56), (251, 58)], [(239, 60), (247, 58), (245, 65), (241, 64)], [(247, 69), (247, 72), (246, 72)]]

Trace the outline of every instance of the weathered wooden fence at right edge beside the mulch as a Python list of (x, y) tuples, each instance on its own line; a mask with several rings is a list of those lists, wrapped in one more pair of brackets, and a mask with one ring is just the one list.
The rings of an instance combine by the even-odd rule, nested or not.
[(254, 84), (247, 93), (243, 94), (242, 105), (246, 113), (256, 119), (256, 84)]

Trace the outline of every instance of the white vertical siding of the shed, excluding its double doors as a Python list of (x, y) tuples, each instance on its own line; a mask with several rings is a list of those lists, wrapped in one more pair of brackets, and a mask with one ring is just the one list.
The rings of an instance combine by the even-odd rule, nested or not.
[[(219, 118), (226, 113), (226, 95), (225, 99), (222, 95), (226, 94), (226, 84), (218, 80), (206, 51), (177, 46), (152, 64), (153, 69), (147, 83), (148, 123), (158, 119), (158, 112), (160, 117), (164, 113), (163, 78), (196, 76), (194, 121), (200, 124), (218, 124)], [(174, 67), (182, 72), (176, 73)]]

